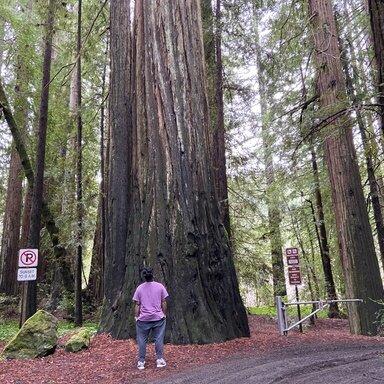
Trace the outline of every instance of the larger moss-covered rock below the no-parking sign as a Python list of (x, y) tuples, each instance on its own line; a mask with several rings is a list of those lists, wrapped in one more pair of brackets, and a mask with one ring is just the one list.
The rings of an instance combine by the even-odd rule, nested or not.
[(31, 316), (5, 346), (3, 359), (29, 359), (47, 356), (57, 346), (57, 319), (46, 311)]

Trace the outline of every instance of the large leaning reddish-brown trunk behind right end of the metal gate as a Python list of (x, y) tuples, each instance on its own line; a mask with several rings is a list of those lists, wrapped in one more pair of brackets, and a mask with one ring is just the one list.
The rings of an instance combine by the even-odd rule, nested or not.
[(337, 114), (345, 110), (348, 103), (332, 2), (309, 0), (309, 11), (322, 117), (336, 114), (327, 119), (322, 132), (346, 294), (365, 300), (364, 304), (350, 306), (350, 328), (352, 333), (375, 334), (376, 313), (380, 310), (377, 301), (383, 299), (384, 292), (353, 144), (351, 118), (346, 112)]

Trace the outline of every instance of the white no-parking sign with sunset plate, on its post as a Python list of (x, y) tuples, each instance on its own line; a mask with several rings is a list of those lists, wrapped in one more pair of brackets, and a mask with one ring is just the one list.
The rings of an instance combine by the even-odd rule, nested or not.
[[(17, 270), (17, 281), (23, 282), (23, 293), (21, 297), (20, 326), (26, 320), (26, 306), (28, 298), (25, 298), (24, 292), (30, 282), (37, 279), (37, 265), (39, 262), (38, 249), (20, 249), (19, 250), (19, 269)], [(26, 300), (26, 302), (24, 302)]]

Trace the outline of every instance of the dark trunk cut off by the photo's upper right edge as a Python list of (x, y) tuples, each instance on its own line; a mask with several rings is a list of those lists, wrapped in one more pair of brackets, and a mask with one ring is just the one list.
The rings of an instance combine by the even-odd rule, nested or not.
[(368, 7), (377, 65), (377, 102), (380, 104), (380, 126), (384, 135), (384, 2), (368, 0)]

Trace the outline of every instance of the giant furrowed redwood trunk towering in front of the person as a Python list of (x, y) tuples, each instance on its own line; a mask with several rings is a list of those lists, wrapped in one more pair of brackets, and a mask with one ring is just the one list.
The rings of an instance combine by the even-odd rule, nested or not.
[[(209, 343), (247, 336), (246, 312), (220, 220), (209, 155), (199, 1), (138, 0), (135, 6), (127, 251), (116, 266), (123, 279), (112, 287), (121, 290), (120, 299), (114, 315), (106, 303), (102, 329), (119, 338), (134, 336), (131, 298), (141, 268), (150, 264), (170, 294), (170, 341)], [(112, 15), (114, 8), (112, 3)], [(115, 43), (111, 36), (112, 58)], [(118, 105), (112, 97), (110, 102), (114, 113)], [(113, 150), (112, 141), (111, 170), (116, 163)], [(114, 187), (111, 179), (110, 192)], [(112, 277), (111, 262), (107, 259), (106, 279)]]

